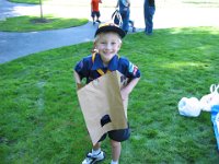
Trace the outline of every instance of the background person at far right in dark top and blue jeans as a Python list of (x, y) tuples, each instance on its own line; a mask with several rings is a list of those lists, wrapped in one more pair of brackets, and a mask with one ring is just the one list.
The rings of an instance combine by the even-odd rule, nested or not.
[(145, 0), (145, 4), (143, 4), (143, 14), (145, 14), (145, 23), (146, 23), (145, 33), (147, 35), (152, 35), (152, 33), (153, 33), (154, 12), (155, 12), (154, 0)]

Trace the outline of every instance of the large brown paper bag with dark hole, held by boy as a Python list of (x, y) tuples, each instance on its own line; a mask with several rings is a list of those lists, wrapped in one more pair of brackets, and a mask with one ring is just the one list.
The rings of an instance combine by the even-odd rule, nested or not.
[(79, 103), (92, 143), (111, 130), (127, 128), (127, 104), (120, 87), (127, 82), (118, 71), (106, 73), (78, 90)]

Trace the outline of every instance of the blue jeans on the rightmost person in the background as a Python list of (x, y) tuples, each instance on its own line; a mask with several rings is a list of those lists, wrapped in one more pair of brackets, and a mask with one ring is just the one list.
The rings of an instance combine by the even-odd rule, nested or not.
[(153, 14), (155, 12), (154, 7), (149, 7), (147, 2), (143, 4), (143, 13), (145, 13), (145, 23), (147, 34), (152, 34), (153, 32)]

